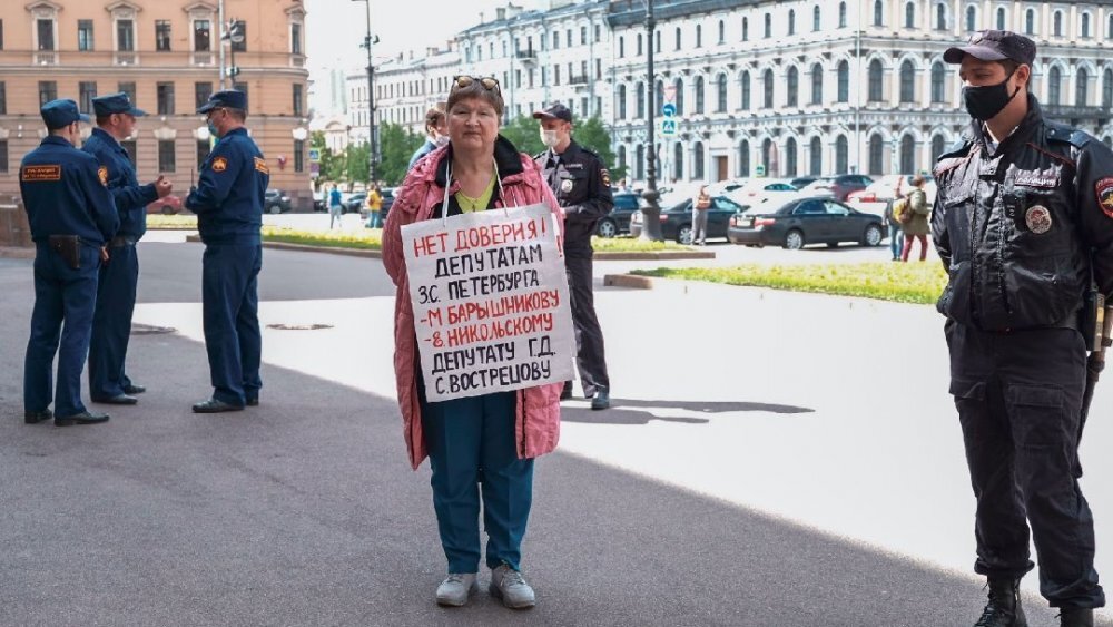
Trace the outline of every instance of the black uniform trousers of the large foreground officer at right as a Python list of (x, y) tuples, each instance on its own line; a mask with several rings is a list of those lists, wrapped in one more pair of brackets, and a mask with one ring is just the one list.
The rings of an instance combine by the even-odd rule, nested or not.
[(977, 499), (974, 570), (1032, 569), (1052, 607), (1102, 607), (1094, 521), (1077, 482), (1086, 351), (1073, 329), (986, 333), (948, 321), (951, 393)]

